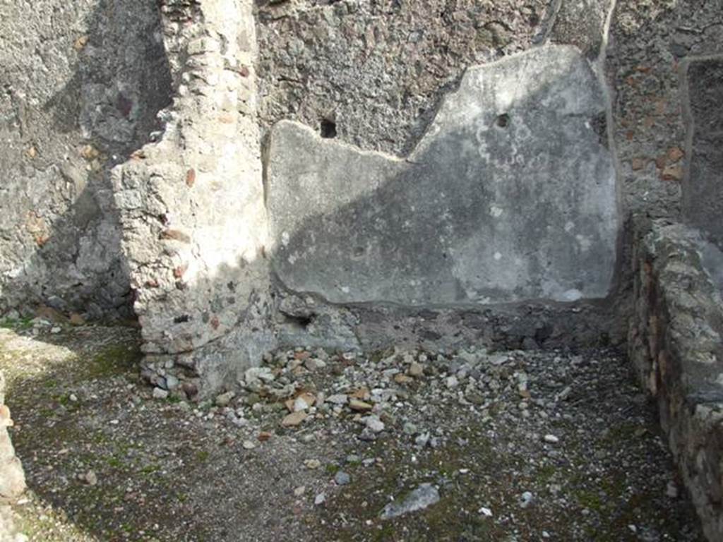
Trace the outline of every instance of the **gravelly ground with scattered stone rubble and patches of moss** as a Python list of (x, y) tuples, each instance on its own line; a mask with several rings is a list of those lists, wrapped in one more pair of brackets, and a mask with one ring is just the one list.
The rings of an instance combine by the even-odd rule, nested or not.
[(188, 404), (137, 330), (14, 322), (31, 541), (702, 541), (614, 350), (296, 348)]

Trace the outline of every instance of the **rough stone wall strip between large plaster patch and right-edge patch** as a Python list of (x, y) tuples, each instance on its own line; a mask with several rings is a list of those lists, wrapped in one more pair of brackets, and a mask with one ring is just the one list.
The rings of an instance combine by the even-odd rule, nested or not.
[(723, 52), (723, 1), (617, 0), (611, 23), (607, 79), (625, 215), (679, 219), (690, 158), (680, 68), (688, 56)]

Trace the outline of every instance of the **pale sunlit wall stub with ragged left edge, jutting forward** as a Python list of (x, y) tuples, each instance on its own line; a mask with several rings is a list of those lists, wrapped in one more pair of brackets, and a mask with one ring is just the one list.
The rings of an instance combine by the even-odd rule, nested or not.
[[(270, 345), (251, 8), (163, 7), (166, 48), (179, 59), (174, 100), (160, 140), (112, 172), (147, 370), (191, 396), (199, 378), (210, 390), (234, 382)], [(178, 366), (192, 379), (166, 375)]]

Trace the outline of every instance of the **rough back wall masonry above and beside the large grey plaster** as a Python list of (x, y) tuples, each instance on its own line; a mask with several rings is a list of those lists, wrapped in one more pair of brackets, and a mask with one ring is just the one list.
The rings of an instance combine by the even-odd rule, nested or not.
[[(167, 1), (171, 24), (185, 27), (181, 8), (194, 4)], [(609, 34), (609, 0), (256, 4), (262, 133), (292, 119), (362, 150), (406, 155), (469, 66), (569, 43), (589, 59), (604, 51), (623, 219), (680, 214), (690, 149), (678, 72), (687, 56), (722, 52), (719, 0), (620, 0)], [(184, 59), (164, 48), (174, 30), (163, 30), (153, 1), (43, 7), (1, 7), (0, 312), (42, 301), (127, 314), (108, 171), (158, 137), (156, 113), (170, 103)]]

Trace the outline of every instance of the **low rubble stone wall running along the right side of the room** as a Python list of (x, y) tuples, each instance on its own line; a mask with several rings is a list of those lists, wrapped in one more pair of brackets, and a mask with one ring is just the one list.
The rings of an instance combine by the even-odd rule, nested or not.
[(636, 247), (628, 348), (693, 497), (723, 540), (723, 254), (698, 231), (656, 221)]

